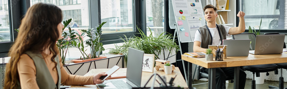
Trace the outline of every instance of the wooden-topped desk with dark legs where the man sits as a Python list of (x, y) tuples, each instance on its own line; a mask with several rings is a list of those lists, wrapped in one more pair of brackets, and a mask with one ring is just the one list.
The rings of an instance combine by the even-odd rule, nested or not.
[[(223, 61), (206, 61), (205, 58), (191, 58), (181, 55), (181, 59), (194, 63), (196, 65), (210, 68), (208, 89), (215, 89), (215, 68), (217, 67), (234, 67), (234, 89), (238, 89), (239, 82), (239, 66), (246, 65), (260, 65), (260, 64), (273, 64), (273, 63), (287, 63), (287, 53), (271, 54), (271, 55), (252, 55), (244, 57), (227, 57)], [(213, 59), (215, 60), (215, 58)], [(192, 71), (192, 65), (188, 64), (188, 73)], [(188, 74), (191, 75), (191, 74)], [(188, 85), (191, 88), (191, 76), (188, 76)]]

